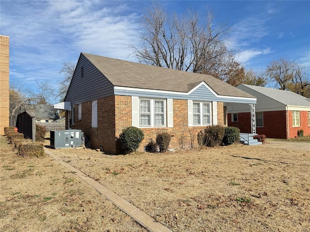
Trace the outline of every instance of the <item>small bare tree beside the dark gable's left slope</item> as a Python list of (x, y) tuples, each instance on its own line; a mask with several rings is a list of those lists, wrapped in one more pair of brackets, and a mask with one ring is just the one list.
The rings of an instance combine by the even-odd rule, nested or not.
[(64, 74), (64, 78), (59, 83), (60, 89), (59, 89), (59, 96), (61, 98), (61, 101), (63, 101), (68, 87), (70, 85), (74, 70), (76, 69), (76, 65), (70, 61), (62, 63), (62, 69), (59, 71), (59, 73)]

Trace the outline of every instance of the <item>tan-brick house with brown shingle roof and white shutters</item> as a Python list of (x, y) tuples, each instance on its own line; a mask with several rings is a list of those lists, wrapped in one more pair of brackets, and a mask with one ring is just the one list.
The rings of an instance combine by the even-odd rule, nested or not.
[(116, 139), (135, 126), (144, 132), (139, 150), (156, 134), (171, 134), (171, 148), (209, 125), (227, 125), (226, 103), (255, 104), (252, 95), (210, 75), (189, 73), (81, 53), (65, 96), (66, 129), (80, 129), (93, 148), (119, 152)]

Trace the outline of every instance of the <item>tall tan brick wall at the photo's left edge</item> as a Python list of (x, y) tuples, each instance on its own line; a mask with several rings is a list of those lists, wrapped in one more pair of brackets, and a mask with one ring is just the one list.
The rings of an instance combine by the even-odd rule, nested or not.
[(9, 126), (9, 37), (0, 35), (0, 134)]

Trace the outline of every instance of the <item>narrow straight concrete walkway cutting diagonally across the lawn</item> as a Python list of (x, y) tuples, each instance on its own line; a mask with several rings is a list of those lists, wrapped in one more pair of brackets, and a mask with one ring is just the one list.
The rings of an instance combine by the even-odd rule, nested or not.
[(125, 214), (127, 214), (129, 217), (132, 217), (135, 221), (137, 221), (141, 226), (146, 228), (150, 232), (172, 232), (164, 225), (160, 224), (159, 222), (156, 222), (152, 217), (145, 214), (143, 211), (138, 209), (136, 206), (130, 204), (129, 202), (125, 201), (122, 197), (117, 195), (116, 193), (109, 190), (109, 188), (104, 187), (97, 181), (93, 180), (92, 178), (86, 176), (84, 173), (80, 172), (75, 167), (71, 166), (70, 164), (62, 161), (60, 158), (58, 158), (56, 155), (54, 155), (52, 152), (50, 152), (47, 148), (45, 148), (45, 152), (47, 155), (49, 155), (54, 160), (57, 160), (59, 163), (61, 163), (64, 167), (69, 169), (72, 172), (75, 172), (75, 174), (84, 180), (87, 184), (95, 188), (100, 194), (102, 194), (107, 200), (109, 200), (111, 203), (115, 204), (120, 210), (122, 210)]

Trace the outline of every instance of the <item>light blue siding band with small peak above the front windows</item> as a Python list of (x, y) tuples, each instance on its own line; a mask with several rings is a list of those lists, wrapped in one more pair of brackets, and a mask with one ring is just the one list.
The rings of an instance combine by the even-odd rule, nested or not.
[(195, 89), (191, 94), (178, 94), (178, 93), (168, 93), (168, 92), (156, 92), (152, 91), (141, 91), (139, 89), (115, 89), (115, 95), (123, 95), (123, 96), (137, 96), (137, 97), (145, 97), (145, 98), (170, 98), (170, 99), (182, 99), (182, 100), (194, 100), (194, 101), (208, 101), (208, 102), (239, 102), (239, 103), (256, 103), (255, 100), (251, 99), (236, 99), (236, 98), (227, 98), (217, 97), (215, 96), (207, 87), (200, 86)]

